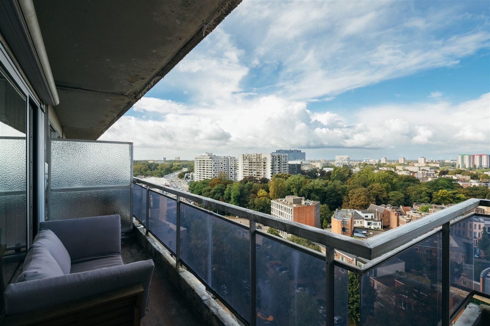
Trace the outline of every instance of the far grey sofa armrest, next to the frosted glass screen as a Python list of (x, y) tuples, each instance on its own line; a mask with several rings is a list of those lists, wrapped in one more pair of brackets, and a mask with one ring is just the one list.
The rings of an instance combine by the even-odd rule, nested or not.
[(104, 254), (121, 253), (121, 217), (107, 215), (39, 223), (61, 240), (72, 261)]

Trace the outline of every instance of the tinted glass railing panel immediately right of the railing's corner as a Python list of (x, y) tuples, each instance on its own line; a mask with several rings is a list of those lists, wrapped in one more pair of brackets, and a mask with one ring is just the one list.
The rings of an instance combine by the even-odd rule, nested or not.
[(438, 325), (441, 321), (441, 233), (361, 277), (361, 325)]

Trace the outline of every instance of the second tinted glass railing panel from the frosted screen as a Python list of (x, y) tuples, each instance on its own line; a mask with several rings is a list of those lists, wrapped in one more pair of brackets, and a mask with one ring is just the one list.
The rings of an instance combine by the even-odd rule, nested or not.
[[(175, 254), (175, 245), (177, 242), (177, 201), (150, 190), (148, 210), (148, 230)], [(185, 229), (181, 227), (181, 238), (183, 233), (185, 233)]]

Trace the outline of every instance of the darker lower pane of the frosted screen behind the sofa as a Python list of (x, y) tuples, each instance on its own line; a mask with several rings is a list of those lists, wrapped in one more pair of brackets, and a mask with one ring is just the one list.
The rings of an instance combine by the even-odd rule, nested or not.
[(119, 214), (129, 230), (131, 189), (51, 192), (50, 220)]

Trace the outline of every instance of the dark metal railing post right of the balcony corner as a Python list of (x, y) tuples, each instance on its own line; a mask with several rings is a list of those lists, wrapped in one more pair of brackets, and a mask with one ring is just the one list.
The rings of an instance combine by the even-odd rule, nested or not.
[(450, 222), (442, 224), (442, 257), (441, 257), (441, 299), (442, 299), (442, 326), (449, 325), (449, 288), (451, 286), (451, 275), (449, 271), (450, 266)]

